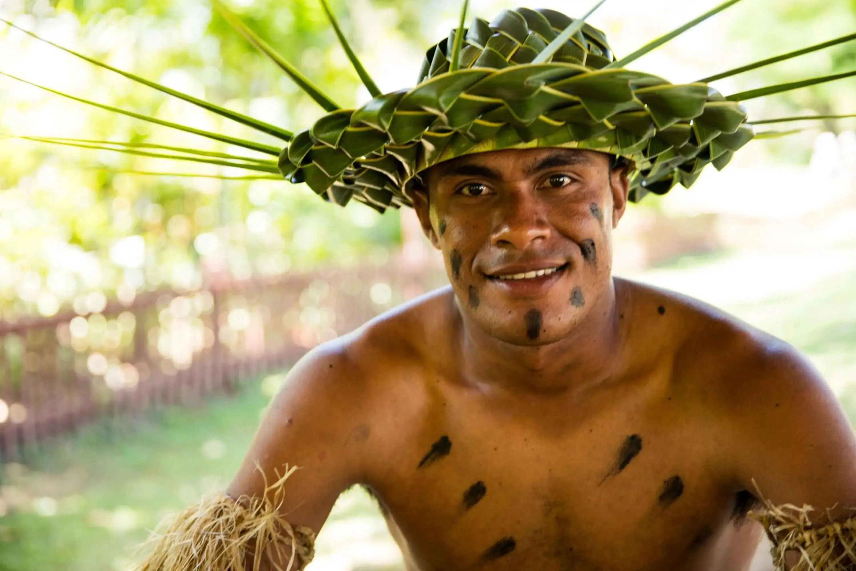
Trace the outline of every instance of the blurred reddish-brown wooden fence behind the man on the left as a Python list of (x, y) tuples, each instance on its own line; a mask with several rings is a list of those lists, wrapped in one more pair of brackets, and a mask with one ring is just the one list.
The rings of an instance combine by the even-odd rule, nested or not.
[(0, 322), (0, 461), (96, 419), (233, 391), (443, 280), (396, 265), (217, 280)]

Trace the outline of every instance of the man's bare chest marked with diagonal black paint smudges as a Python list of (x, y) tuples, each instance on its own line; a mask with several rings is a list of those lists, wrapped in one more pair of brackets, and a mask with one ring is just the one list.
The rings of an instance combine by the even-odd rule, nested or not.
[(680, 568), (726, 531), (718, 443), (680, 413), (615, 402), (520, 422), (458, 405), (402, 426), (373, 483), (420, 569)]

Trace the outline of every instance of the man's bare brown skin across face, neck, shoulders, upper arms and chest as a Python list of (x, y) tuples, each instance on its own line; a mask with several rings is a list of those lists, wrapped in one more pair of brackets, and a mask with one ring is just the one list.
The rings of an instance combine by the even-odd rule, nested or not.
[[(318, 530), (367, 485), (423, 571), (740, 571), (761, 535), (735, 515), (753, 480), (777, 504), (856, 506), (856, 437), (805, 358), (611, 277), (627, 170), (533, 149), (458, 158), (426, 183), (413, 201), (452, 287), (300, 360), (231, 495), (261, 493), (256, 461), (300, 466), (283, 512)], [(536, 295), (490, 278), (519, 264), (568, 266)]]

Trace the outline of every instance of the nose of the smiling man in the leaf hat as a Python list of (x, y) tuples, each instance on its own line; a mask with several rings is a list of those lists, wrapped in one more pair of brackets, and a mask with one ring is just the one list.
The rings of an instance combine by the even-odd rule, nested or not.
[(550, 223), (543, 205), (530, 193), (509, 193), (504, 208), (496, 214), (490, 241), (496, 247), (526, 250), (536, 241), (550, 238)]

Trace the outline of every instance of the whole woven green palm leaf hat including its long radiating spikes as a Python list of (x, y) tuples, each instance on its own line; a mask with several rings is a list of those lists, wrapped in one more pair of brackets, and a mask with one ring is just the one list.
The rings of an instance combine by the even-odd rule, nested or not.
[(648, 193), (668, 193), (679, 183), (691, 187), (708, 164), (722, 170), (734, 152), (749, 141), (780, 134), (756, 133), (754, 126), (853, 116), (796, 116), (750, 122), (740, 102), (852, 77), (856, 70), (729, 96), (708, 84), (852, 41), (856, 33), (676, 85), (626, 66), (740, 0), (728, 0), (621, 59), (616, 59), (605, 34), (586, 23), (605, 2), (600, 0), (580, 19), (550, 9), (520, 8), (505, 10), (490, 22), (475, 18), (465, 27), (465, 0), (459, 26), (427, 51), (417, 85), (383, 93), (354, 54), (326, 0), (320, 0), (342, 48), (372, 95), (371, 101), (354, 110), (342, 109), (333, 102), (238, 16), (214, 0), (232, 27), (328, 111), (311, 128), (297, 134), (112, 68), (22, 30), (101, 68), (273, 135), (285, 141), (282, 148), (142, 116), (56, 92), (2, 71), (0, 74), (81, 103), (244, 147), (268, 158), (145, 143), (27, 139), (219, 164), (253, 173), (243, 178), (281, 175), (295, 184), (305, 182), (329, 202), (347, 205), (353, 199), (380, 212), (412, 205), (408, 188), (419, 181), (421, 171), (434, 164), (476, 152), (532, 147), (590, 149), (632, 161), (635, 169), (630, 177), (630, 199), (639, 201)]

